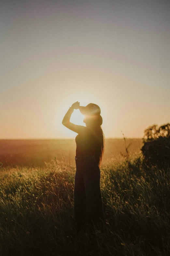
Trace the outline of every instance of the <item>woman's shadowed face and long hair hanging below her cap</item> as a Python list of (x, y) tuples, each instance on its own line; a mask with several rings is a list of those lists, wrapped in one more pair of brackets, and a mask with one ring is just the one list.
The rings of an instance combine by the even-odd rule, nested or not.
[(101, 115), (88, 116), (84, 118), (84, 123), (89, 124), (89, 128), (93, 136), (97, 141), (97, 148), (95, 152), (95, 159), (97, 164), (100, 166), (104, 154), (105, 149), (105, 135), (101, 128), (101, 124), (103, 122)]

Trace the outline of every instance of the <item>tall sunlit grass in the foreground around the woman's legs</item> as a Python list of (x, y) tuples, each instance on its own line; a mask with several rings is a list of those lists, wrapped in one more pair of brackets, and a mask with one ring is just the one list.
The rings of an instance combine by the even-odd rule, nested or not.
[(0, 169), (0, 255), (169, 255), (170, 168), (139, 156), (101, 167), (106, 224), (77, 232), (75, 167)]

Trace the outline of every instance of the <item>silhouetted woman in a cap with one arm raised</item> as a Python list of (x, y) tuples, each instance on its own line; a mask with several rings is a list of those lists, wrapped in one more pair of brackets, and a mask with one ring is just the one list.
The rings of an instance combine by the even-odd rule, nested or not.
[[(74, 109), (85, 115), (85, 126), (70, 123)], [(74, 184), (74, 214), (77, 229), (104, 220), (103, 204), (100, 191), (100, 163), (104, 152), (104, 135), (101, 128), (102, 117), (96, 104), (79, 106), (75, 102), (63, 118), (62, 124), (78, 133), (76, 136), (76, 174)]]

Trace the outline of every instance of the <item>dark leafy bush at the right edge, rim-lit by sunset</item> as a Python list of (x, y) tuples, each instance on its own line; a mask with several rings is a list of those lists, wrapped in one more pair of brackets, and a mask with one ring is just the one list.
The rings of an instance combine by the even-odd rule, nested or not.
[(141, 151), (147, 164), (170, 164), (170, 124), (147, 128), (143, 143)]

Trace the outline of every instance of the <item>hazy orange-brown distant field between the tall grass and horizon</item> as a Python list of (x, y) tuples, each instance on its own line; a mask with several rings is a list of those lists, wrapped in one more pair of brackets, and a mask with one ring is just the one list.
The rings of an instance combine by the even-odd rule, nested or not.
[[(130, 145), (129, 145), (130, 144)], [(142, 139), (126, 139), (130, 153), (138, 151)], [(76, 143), (74, 139), (0, 140), (0, 165), (44, 166), (51, 159), (75, 165)], [(107, 159), (125, 154), (123, 139), (106, 139), (103, 163)]]

